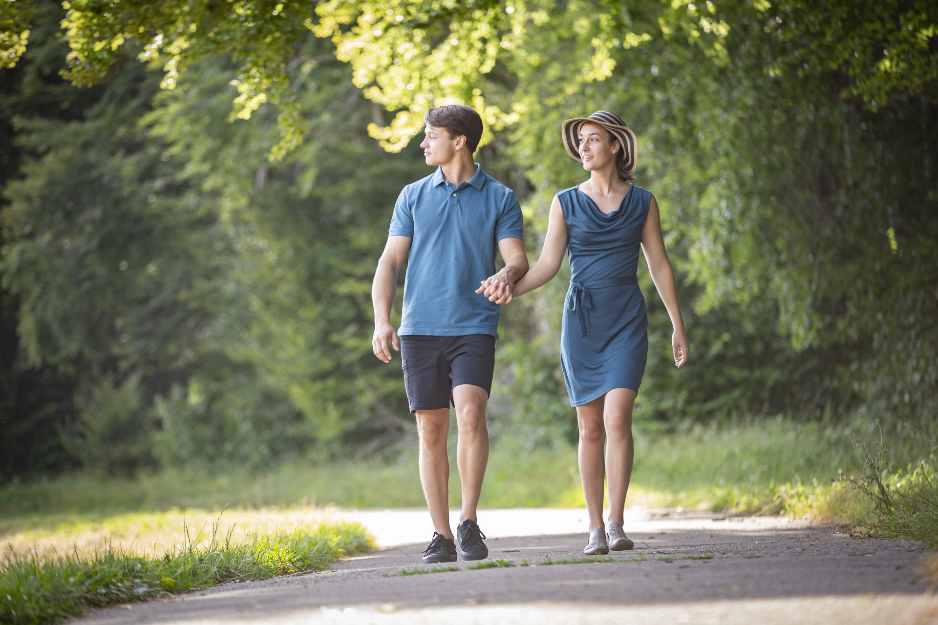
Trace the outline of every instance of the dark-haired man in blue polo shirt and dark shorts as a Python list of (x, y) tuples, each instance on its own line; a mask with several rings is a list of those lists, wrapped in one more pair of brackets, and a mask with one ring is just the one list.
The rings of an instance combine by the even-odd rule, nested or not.
[[(522, 212), (514, 192), (473, 162), (482, 137), (477, 112), (464, 105), (443, 106), (428, 111), (424, 121), (420, 147), (427, 164), (438, 167), (405, 186), (394, 206), (371, 290), (371, 347), (385, 363), (391, 362), (388, 342), (401, 351), (404, 387), (420, 440), (420, 483), (435, 529), (425, 563), (456, 560), (446, 456), (449, 404), (456, 408), (462, 490), (456, 532), (461, 557), (476, 560), (489, 555), (476, 509), (489, 460), (485, 405), (498, 338), (498, 305), (476, 291), (495, 274), (496, 247), (506, 264), (493, 279), (509, 293), (527, 271)], [(391, 304), (408, 251), (401, 328), (395, 332)]]

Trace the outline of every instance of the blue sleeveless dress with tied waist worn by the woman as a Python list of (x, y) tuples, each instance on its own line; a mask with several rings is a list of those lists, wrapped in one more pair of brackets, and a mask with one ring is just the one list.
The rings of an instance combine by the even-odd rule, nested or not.
[(557, 194), (567, 223), (570, 288), (560, 364), (571, 406), (616, 388), (638, 393), (648, 357), (648, 318), (635, 275), (651, 191), (632, 185), (604, 215), (576, 186)]

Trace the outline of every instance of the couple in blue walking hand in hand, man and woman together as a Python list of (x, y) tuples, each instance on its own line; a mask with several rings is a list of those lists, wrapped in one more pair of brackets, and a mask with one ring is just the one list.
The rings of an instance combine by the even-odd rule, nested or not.
[[(482, 136), (464, 105), (431, 109), (420, 146), (431, 175), (405, 186), (394, 207), (374, 276), (374, 354), (401, 351), (404, 386), (419, 435), (420, 483), (435, 531), (423, 561), (487, 558), (477, 504), (489, 458), (485, 408), (492, 389), (499, 305), (549, 282), (569, 253), (561, 366), (580, 426), (579, 464), (589, 513), (583, 553), (631, 549), (623, 529), (631, 477), (632, 407), (648, 352), (647, 318), (636, 269), (644, 252), (673, 323), (674, 365), (688, 359), (677, 287), (661, 235), (658, 203), (634, 180), (634, 133), (611, 112), (561, 126), (567, 154), (590, 178), (557, 193), (540, 258), (530, 268), (522, 212), (513, 191), (473, 161)], [(505, 267), (495, 273), (500, 252)], [(401, 327), (390, 322), (398, 271), (408, 253)], [(456, 409), (462, 510), (449, 525), (449, 405)], [(605, 448), (605, 449), (604, 449)], [(605, 454), (604, 454), (605, 451)], [(609, 523), (603, 522), (604, 480)]]

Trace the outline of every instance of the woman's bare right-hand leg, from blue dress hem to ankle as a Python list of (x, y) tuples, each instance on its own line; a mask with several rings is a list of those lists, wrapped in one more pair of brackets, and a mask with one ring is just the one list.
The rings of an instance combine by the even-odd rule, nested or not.
[(635, 458), (635, 443), (632, 439), (634, 406), (635, 391), (631, 389), (613, 389), (606, 394), (602, 419), (606, 431), (610, 523), (624, 522), (628, 483), (632, 477), (632, 461)]

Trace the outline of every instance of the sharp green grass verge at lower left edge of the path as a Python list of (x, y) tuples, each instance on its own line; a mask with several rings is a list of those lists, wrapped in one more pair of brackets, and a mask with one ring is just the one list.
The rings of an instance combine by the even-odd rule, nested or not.
[(162, 557), (119, 549), (42, 557), (8, 557), (0, 568), (0, 622), (41, 625), (116, 603), (267, 579), (326, 568), (328, 562), (373, 548), (356, 523), (323, 523), (233, 541), (231, 534), (199, 546), (195, 540)]

